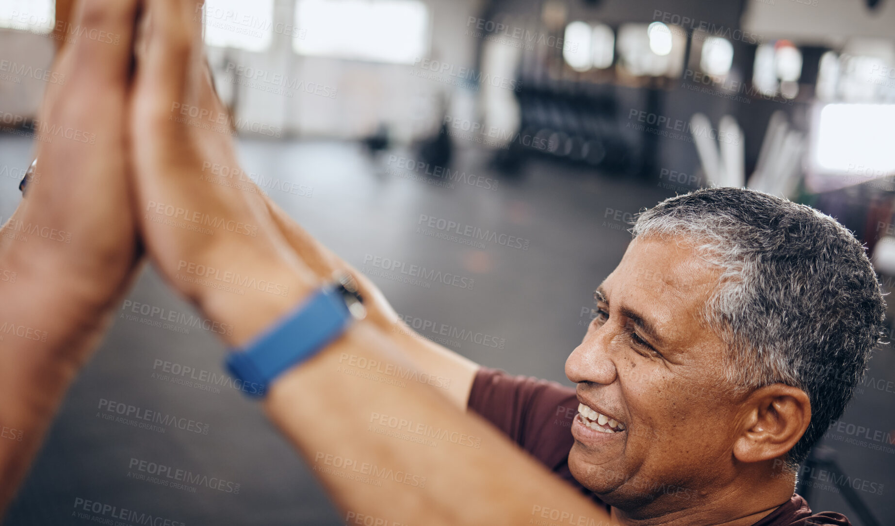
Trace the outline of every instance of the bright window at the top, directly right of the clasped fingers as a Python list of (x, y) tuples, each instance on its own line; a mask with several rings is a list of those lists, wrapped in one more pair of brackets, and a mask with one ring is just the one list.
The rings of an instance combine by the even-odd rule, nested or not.
[(273, 17), (274, 0), (206, 0), (205, 43), (264, 51), (270, 46), (273, 30), (290, 30), (288, 24), (277, 23)]

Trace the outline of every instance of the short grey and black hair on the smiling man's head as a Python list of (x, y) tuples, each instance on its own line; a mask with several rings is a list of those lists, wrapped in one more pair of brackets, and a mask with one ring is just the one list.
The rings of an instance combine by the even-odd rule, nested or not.
[(721, 268), (699, 316), (729, 346), (726, 380), (805, 391), (811, 423), (786, 459), (805, 461), (845, 411), (882, 335), (885, 302), (861, 243), (814, 208), (729, 187), (666, 199), (631, 232), (684, 238)]

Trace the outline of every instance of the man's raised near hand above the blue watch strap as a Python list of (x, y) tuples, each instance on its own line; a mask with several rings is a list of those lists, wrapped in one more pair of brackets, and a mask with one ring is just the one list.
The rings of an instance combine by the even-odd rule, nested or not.
[[(241, 170), (229, 113), (212, 91), (197, 0), (148, 0), (131, 112), (134, 213), (167, 281), (244, 343), (320, 282), (260, 194), (215, 182)], [(234, 323), (235, 322), (235, 323)]]

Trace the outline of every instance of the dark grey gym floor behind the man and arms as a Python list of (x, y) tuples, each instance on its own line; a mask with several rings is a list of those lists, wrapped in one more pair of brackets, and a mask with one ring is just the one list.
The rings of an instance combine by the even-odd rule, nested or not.
[[(584, 334), (593, 289), (618, 264), (630, 240), (626, 220), (673, 194), (657, 181), (546, 160), (526, 163), (522, 177), (507, 178), (490, 171), (488, 157), (476, 150), (459, 152), (456, 168), (496, 179), (496, 189), (459, 182), (456, 188), (439, 187), (425, 182), (425, 169), (399, 167), (405, 163), (396, 159), (413, 156), (371, 156), (354, 143), (242, 140), (241, 150), (246, 171), (269, 177), (262, 187), (312, 234), (371, 276), (412, 324), (448, 326), (451, 335), (430, 335), (483, 365), (567, 385), (564, 362)], [(0, 158), (4, 165), (27, 166), (30, 140), (0, 139)], [(4, 180), (3, 187), (0, 216), (6, 218), (19, 196), (13, 180)], [(514, 241), (484, 242), (482, 249), (439, 239), (439, 220)], [(417, 265), (460, 280), (397, 281), (404, 275), (396, 261), (405, 269)], [(191, 323), (194, 314), (150, 268), (143, 272), (93, 361), (72, 386), (4, 524), (87, 523), (72, 513), (78, 498), (192, 525), (344, 523), (309, 466), (274, 432), (257, 403), (211, 380), (171, 381), (223, 373), (225, 350), (212, 330)], [(871, 381), (844, 423), (824, 439), (838, 451), (848, 476), (860, 479), (853, 486), (880, 518), (895, 516), (895, 502), (885, 496), (895, 483), (895, 445), (866, 437), (877, 431), (895, 434), (892, 353), (890, 347), (876, 354), (868, 372)], [(185, 368), (193, 372), (184, 375)], [(110, 403), (195, 423), (183, 429), (162, 426), (161, 431), (132, 427), (103, 418), (113, 414), (102, 409)], [(859, 434), (858, 426), (869, 431)], [(139, 462), (223, 482), (166, 487), (132, 478), (141, 472), (131, 467)], [(856, 526), (862, 524), (824, 476), (813, 472), (810, 477), (817, 485), (810, 498), (814, 509), (847, 513)], [(871, 493), (866, 485), (860, 490), (864, 481), (875, 483), (879, 492)]]

